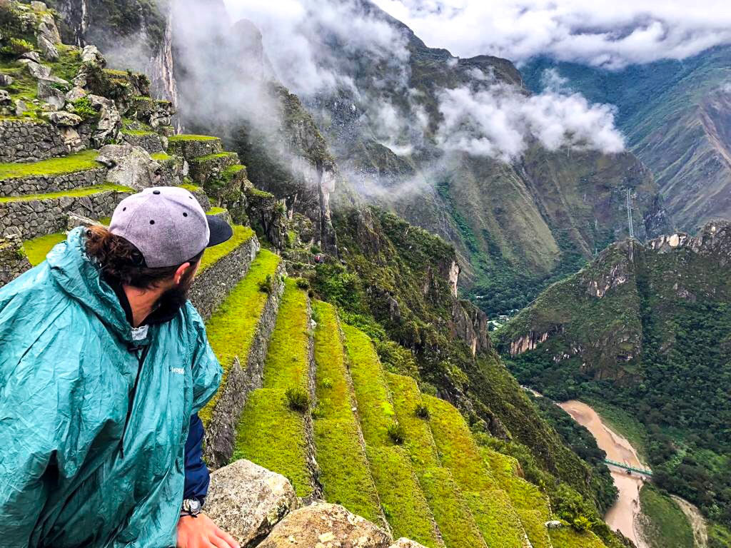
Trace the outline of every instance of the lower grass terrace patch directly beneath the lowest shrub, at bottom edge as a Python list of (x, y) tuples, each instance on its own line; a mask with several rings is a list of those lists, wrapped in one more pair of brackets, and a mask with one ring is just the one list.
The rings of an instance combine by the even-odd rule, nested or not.
[(429, 548), (443, 546), (436, 539), (431, 509), (406, 451), (401, 447), (366, 446), (366, 453), (393, 537), (405, 536)]

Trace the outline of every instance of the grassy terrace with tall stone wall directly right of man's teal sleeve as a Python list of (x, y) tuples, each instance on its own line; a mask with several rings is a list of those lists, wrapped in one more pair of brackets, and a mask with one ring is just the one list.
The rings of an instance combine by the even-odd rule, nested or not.
[(208, 340), (224, 371), (221, 387), (199, 413), (205, 425), (205, 460), (211, 468), (231, 459), (241, 411), (249, 393), (262, 387), (269, 338), (284, 290), (283, 272), (279, 256), (260, 250), (246, 276), (206, 322)]

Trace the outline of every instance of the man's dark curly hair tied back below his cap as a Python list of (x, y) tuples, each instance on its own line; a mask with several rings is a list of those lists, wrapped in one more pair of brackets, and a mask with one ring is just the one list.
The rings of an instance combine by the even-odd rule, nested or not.
[[(136, 246), (99, 225), (86, 229), (86, 254), (101, 267), (105, 276), (138, 289), (156, 287), (162, 280), (173, 276), (180, 267), (148, 267)], [(195, 265), (202, 255), (203, 251), (187, 262)]]

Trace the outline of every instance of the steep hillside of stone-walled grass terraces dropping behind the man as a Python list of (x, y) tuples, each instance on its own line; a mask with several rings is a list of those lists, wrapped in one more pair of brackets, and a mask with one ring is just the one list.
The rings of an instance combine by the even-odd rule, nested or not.
[[(303, 498), (342, 503), (429, 548), (621, 546), (600, 517), (591, 468), (504, 368), (485, 314), (458, 298), (452, 246), (393, 213), (344, 202), (331, 220), (338, 244), (323, 253), (327, 239), (295, 205), (312, 189), (277, 186), (275, 197), (255, 188), (238, 160), (251, 159), (265, 182), (257, 153), (243, 149), (239, 158), (219, 137), (176, 134), (173, 107), (145, 96), (144, 75), (105, 69), (91, 46), (58, 41), (64, 55), (48, 72), (31, 65), (38, 80), (58, 78), (48, 98), (68, 109), (59, 110), (36, 94), (20, 61), (39, 53), (36, 31), (56, 14), (12, 2), (0, 4), (0, 16), (2, 81), (12, 80), (3, 85), (0, 131), (12, 137), (22, 127), (60, 143), (36, 150), (27, 139), (23, 147), (0, 142), (9, 159), (0, 164), (2, 219), (13, 219), (2, 225), (3, 283), (29, 269), (29, 259), (42, 262), (67, 227), (108, 222), (119, 198), (161, 183), (235, 222), (234, 237), (206, 253), (191, 293), (224, 370), (200, 412), (208, 465), (253, 460), (286, 475)], [(298, 159), (285, 157), (301, 173), (300, 161), (317, 166), (327, 147), (296, 97), (285, 99), (291, 125), (276, 131), (302, 145)], [(31, 110), (10, 109), (23, 102)], [(69, 128), (77, 140), (64, 142)], [(23, 156), (26, 145), (36, 156)], [(271, 161), (285, 165), (282, 150), (269, 151)], [(112, 162), (105, 154), (113, 153)], [(130, 160), (135, 169), (120, 174)], [(37, 222), (25, 222), (29, 210)], [(556, 520), (558, 528), (546, 525)]]

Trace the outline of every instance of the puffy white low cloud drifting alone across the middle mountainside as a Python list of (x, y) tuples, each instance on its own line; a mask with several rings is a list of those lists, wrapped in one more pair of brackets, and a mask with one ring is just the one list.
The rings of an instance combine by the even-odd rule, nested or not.
[(444, 121), (437, 140), (447, 151), (513, 161), (532, 139), (549, 151), (624, 151), (624, 137), (614, 126), (615, 108), (590, 104), (580, 94), (528, 96), (501, 84), (480, 91), (456, 88), (442, 91), (439, 111)]

